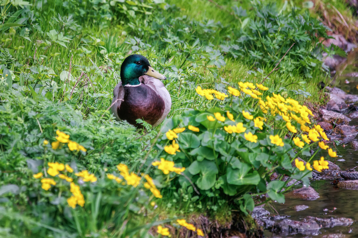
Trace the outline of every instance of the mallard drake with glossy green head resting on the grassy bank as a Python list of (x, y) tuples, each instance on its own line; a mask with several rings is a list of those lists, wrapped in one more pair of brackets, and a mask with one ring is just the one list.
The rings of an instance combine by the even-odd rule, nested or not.
[(168, 115), (171, 98), (164, 87), (164, 75), (156, 72), (146, 57), (130, 55), (121, 65), (121, 81), (113, 90), (112, 112), (118, 121), (142, 128), (136, 122), (143, 119), (158, 126)]

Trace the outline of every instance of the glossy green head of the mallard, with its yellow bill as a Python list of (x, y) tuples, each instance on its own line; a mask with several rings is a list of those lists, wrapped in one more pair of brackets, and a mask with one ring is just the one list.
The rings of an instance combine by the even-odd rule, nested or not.
[(156, 79), (166, 79), (164, 75), (155, 71), (148, 61), (148, 59), (142, 55), (130, 55), (121, 65), (121, 80), (122, 85), (138, 85), (139, 77), (143, 75), (149, 75)]

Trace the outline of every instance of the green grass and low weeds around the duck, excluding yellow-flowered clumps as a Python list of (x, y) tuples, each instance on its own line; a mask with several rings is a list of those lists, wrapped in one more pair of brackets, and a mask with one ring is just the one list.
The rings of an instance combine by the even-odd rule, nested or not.
[[(197, 198), (183, 199), (174, 188), (160, 200), (142, 187), (130, 189), (108, 181), (105, 174), (115, 173), (121, 162), (128, 164), (130, 171), (143, 168), (141, 172), (148, 172), (150, 161), (159, 156), (151, 147), (153, 138), (158, 138), (165, 126), (149, 129), (144, 135), (116, 122), (107, 109), (120, 80), (121, 63), (130, 54), (146, 56), (154, 69), (168, 77), (164, 83), (173, 102), (168, 118), (187, 109), (219, 105), (218, 100), (204, 105), (195, 87), (224, 92), (240, 81), (263, 82), (270, 92), (300, 103), (324, 103), (318, 83), (328, 84), (330, 79), (319, 58), (326, 49), (316, 35), (327, 37), (326, 29), (304, 10), (292, 15), (283, 1), (277, 5), (239, 3), (0, 3), (0, 20), (21, 25), (0, 28), (0, 75), (4, 77), (0, 113), (6, 119), (0, 133), (0, 191), (9, 184), (24, 187), (0, 192), (4, 196), (0, 209), (11, 207), (4, 208), (6, 212), (0, 216), (0, 221), (11, 221), (4, 223), (0, 234), (151, 237), (149, 228), (162, 224), (156, 222), (158, 217), (174, 220), (175, 216), (207, 213), (225, 220), (226, 212), (220, 208), (231, 209), (225, 199), (215, 204), (215, 200), (204, 202), (207, 198), (201, 196), (198, 201), (203, 203), (198, 206)], [(304, 29), (298, 13), (311, 23)], [(273, 26), (265, 25), (271, 21)], [(285, 25), (293, 30), (282, 30)], [(317, 28), (309, 27), (313, 25)], [(278, 65), (280, 69), (267, 77), (292, 43), (295, 45)], [(273, 121), (271, 118), (271, 125)], [(72, 152), (66, 145), (58, 151), (44, 146), (44, 140), (54, 140), (57, 129), (91, 152)], [(44, 191), (32, 178), (39, 166), (54, 161), (78, 166), (78, 171), (88, 169), (98, 177), (98, 184), (81, 187), (88, 198), (84, 208), (67, 206), (68, 186), (61, 183), (52, 192)], [(159, 205), (159, 215), (150, 201)], [(17, 224), (23, 224), (22, 228)]]

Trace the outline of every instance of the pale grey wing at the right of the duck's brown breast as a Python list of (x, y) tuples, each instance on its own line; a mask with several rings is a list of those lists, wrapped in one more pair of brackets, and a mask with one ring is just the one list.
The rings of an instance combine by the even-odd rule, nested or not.
[(143, 75), (139, 77), (139, 81), (143, 83), (144, 85), (147, 85), (151, 89), (154, 90), (158, 94), (159, 97), (161, 97), (164, 101), (164, 112), (163, 115), (160, 117), (160, 119), (153, 125), (157, 126), (162, 122), (165, 117), (170, 112), (171, 108), (171, 98), (168, 90), (166, 90), (164, 83), (160, 81), (159, 79), (156, 79), (154, 77), (151, 77), (149, 75)]

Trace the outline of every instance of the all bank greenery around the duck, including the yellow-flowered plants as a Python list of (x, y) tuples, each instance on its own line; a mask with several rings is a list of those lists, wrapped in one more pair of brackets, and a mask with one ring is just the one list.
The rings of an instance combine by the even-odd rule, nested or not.
[[(218, 4), (0, 1), (1, 236), (204, 236), (192, 214), (283, 202), (271, 173), (308, 184), (326, 166), (310, 159), (327, 146), (303, 106), (323, 101), (326, 27), (285, 5)], [(108, 110), (134, 53), (173, 101), (146, 134)]]

